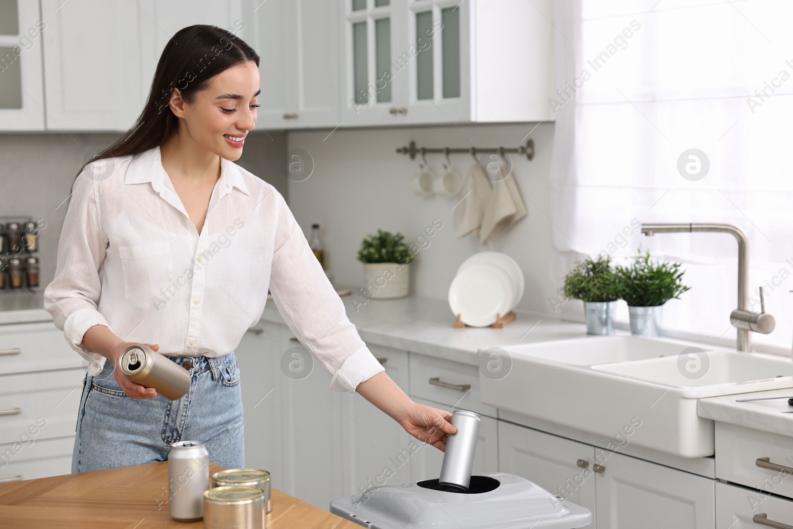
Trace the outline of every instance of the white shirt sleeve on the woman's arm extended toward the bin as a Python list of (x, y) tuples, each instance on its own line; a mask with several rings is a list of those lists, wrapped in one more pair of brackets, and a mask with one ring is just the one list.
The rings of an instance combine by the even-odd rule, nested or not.
[(355, 392), (383, 371), (366, 347), (339, 295), (314, 256), (289, 206), (277, 194), (270, 293), (289, 329), (332, 375), (331, 389)]

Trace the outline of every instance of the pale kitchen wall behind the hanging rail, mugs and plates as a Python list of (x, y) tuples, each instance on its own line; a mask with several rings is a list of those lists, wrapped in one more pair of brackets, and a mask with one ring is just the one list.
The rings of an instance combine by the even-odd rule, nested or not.
[[(306, 236), (310, 236), (312, 223), (320, 223), (328, 268), (338, 283), (363, 284), (362, 264), (355, 255), (366, 232), (377, 228), (398, 231), (418, 245), (419, 235), (439, 218), (442, 229), (429, 239), (428, 247), (419, 250), (412, 265), (412, 293), (445, 300), (465, 258), (477, 251), (503, 251), (518, 261), (526, 275), (526, 291), (518, 308), (553, 312), (548, 298), (555, 295), (561, 282), (557, 252), (550, 242), (554, 225), (547, 217), (554, 124), (535, 125), (337, 129), (330, 136), (329, 130), (289, 132), (289, 150), (307, 152), (315, 166), (305, 181), (289, 181), (289, 205)], [(452, 208), (462, 194), (454, 198), (414, 194), (411, 179), (419, 171), (420, 156), (411, 160), (395, 151), (410, 140), (419, 147), (517, 147), (533, 128), (529, 137), (536, 146), (534, 159), (512, 155), (513, 174), (529, 214), (485, 246), (474, 236), (454, 237)], [(427, 155), (436, 172), (442, 171), (444, 161), (443, 155)], [(451, 155), (451, 162), (465, 175), (473, 159), (469, 154), (456, 154)], [(366, 299), (361, 297), (361, 301)], [(449, 312), (448, 303), (439, 305)]]

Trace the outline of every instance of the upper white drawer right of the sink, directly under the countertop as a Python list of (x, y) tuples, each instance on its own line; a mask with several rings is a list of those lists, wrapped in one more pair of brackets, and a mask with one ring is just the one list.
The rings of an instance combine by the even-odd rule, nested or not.
[(716, 423), (719, 479), (793, 498), (793, 478), (784, 467), (793, 473), (793, 438)]

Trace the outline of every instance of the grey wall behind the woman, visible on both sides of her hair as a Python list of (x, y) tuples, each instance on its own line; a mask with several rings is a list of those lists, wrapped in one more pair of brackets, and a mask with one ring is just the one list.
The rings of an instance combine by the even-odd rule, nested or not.
[[(66, 216), (71, 183), (91, 156), (120, 134), (3, 134), (0, 136), (0, 217), (31, 216), (44, 219), (40, 235), (40, 284), (55, 277), (58, 240)], [(286, 179), (278, 164), (286, 145), (284, 132), (253, 132), (238, 163), (287, 194)], [(0, 295), (5, 292), (0, 293)]]

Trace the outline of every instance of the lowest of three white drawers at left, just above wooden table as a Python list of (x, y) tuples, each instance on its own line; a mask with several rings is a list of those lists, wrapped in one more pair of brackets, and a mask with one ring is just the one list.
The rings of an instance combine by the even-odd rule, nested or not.
[(75, 436), (0, 445), (0, 483), (71, 473)]

